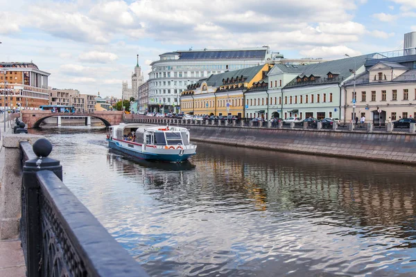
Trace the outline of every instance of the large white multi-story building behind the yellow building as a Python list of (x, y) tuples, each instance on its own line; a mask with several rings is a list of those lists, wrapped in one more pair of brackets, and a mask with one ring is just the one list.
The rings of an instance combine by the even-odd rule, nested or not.
[[(283, 55), (268, 46), (242, 49), (178, 50), (159, 55), (149, 73), (148, 106), (150, 111), (174, 111), (180, 95), (189, 84), (212, 74), (245, 69), (279, 61)], [(182, 107), (182, 105), (180, 105)]]

